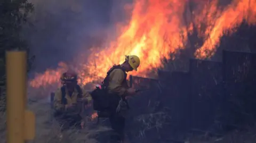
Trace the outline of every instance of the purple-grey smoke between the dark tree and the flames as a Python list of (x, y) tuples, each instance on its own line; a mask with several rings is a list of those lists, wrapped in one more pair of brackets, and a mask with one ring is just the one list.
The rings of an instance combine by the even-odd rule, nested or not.
[[(36, 55), (34, 72), (56, 68), (79, 53), (89, 55), (115, 33), (115, 23), (124, 19), (124, 5), (116, 0), (30, 0), (35, 12), (33, 26), (25, 28), (31, 53)], [(114, 35), (113, 35), (114, 36)], [(84, 61), (83, 61), (84, 62)]]

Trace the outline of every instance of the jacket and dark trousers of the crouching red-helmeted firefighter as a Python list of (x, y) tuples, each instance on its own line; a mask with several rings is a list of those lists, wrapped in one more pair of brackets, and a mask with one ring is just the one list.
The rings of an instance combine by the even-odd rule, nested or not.
[(86, 100), (90, 102), (92, 100), (89, 92), (81, 89), (80, 86), (76, 85), (73, 92), (69, 92), (66, 86), (62, 86), (60, 89), (55, 91), (54, 96), (54, 109), (55, 119), (60, 123), (62, 130), (70, 127), (83, 128), (83, 118), (81, 113), (83, 104), (78, 104), (78, 100)]

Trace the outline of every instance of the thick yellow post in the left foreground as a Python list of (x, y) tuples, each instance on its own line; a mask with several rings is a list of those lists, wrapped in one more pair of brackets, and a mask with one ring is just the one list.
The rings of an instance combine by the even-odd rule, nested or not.
[[(6, 52), (7, 142), (24, 143), (34, 138), (35, 116), (26, 111), (27, 53)], [(30, 120), (30, 124), (28, 124)], [(27, 129), (29, 128), (29, 129)], [(28, 131), (29, 130), (29, 133)]]

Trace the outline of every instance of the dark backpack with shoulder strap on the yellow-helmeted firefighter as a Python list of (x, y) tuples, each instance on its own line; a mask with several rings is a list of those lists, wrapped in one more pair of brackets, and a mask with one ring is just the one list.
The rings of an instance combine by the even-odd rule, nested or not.
[(103, 80), (101, 88), (97, 87), (91, 92), (93, 99), (93, 110), (98, 112), (105, 112), (111, 110), (111, 96), (109, 96), (107, 88), (109, 85), (109, 75), (115, 69), (122, 69), (124, 72), (124, 81), (126, 82), (127, 74), (120, 65), (114, 65), (108, 72), (106, 78)]

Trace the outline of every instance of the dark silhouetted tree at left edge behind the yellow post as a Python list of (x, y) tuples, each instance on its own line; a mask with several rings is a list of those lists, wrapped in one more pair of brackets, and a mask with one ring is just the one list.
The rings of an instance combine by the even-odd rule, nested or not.
[[(29, 47), (21, 36), (23, 24), (26, 24), (28, 14), (33, 12), (33, 4), (27, 0), (1, 0), (0, 1), (0, 92), (1, 108), (5, 110), (5, 51), (12, 49), (25, 50), (29, 55)], [(28, 56), (28, 71), (34, 56)]]

